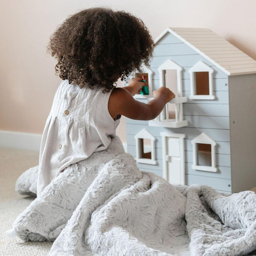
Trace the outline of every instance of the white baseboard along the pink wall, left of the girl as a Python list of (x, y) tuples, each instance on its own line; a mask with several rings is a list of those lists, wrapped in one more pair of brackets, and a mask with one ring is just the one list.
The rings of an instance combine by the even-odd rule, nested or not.
[(40, 151), (42, 134), (17, 131), (0, 131), (0, 146)]

